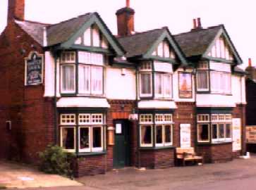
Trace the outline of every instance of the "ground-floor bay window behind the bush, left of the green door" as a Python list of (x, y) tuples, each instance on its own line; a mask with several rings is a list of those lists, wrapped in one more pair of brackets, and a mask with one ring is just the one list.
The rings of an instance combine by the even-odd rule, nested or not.
[[(66, 151), (75, 152), (76, 144), (78, 144), (78, 153), (104, 151), (104, 114), (61, 114), (60, 121), (61, 147)], [(76, 131), (78, 131), (78, 139), (75, 139)]]

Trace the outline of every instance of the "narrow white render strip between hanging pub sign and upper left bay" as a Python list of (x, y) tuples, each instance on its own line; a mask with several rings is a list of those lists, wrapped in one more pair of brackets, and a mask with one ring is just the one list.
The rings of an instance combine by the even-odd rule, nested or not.
[(44, 97), (54, 96), (54, 57), (50, 51), (44, 53)]

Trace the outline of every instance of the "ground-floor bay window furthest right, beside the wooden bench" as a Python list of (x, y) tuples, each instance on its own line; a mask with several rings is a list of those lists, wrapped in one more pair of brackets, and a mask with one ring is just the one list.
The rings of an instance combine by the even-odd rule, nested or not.
[[(198, 114), (197, 141), (231, 141), (231, 114)], [(212, 133), (210, 137), (210, 132)]]

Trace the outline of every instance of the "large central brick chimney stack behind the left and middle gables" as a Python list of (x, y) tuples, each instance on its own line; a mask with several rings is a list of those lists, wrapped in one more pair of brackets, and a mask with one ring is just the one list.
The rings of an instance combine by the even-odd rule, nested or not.
[(126, 7), (116, 11), (118, 36), (124, 37), (134, 32), (135, 11), (130, 8), (130, 0), (126, 0)]

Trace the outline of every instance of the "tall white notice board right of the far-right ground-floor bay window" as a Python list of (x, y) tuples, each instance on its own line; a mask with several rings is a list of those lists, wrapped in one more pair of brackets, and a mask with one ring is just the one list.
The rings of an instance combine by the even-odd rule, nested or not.
[(233, 151), (240, 151), (242, 148), (240, 118), (232, 119), (232, 134), (233, 134)]

